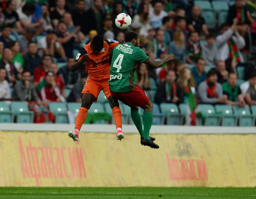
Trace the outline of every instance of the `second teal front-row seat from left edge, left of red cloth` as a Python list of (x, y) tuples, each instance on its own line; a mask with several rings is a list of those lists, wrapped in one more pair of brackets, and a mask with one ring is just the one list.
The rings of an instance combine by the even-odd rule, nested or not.
[(27, 104), (24, 102), (12, 102), (11, 109), (16, 116), (18, 123), (32, 123), (34, 112), (29, 111)]

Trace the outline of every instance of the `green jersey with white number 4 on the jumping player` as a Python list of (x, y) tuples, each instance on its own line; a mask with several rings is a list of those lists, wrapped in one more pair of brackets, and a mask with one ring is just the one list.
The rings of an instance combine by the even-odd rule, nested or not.
[(139, 46), (130, 42), (117, 45), (111, 52), (109, 89), (117, 93), (124, 93), (135, 88), (133, 81), (135, 65), (148, 59), (146, 53)]

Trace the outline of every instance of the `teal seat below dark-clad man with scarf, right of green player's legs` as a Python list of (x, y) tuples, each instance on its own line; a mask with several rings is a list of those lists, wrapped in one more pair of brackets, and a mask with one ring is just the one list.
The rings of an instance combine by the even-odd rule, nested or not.
[(162, 103), (160, 109), (163, 116), (167, 119), (168, 125), (181, 125), (182, 115), (179, 113), (179, 109), (174, 103)]

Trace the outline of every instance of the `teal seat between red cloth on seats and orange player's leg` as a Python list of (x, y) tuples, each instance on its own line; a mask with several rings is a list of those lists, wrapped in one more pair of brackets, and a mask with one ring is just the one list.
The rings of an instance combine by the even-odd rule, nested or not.
[(49, 109), (55, 116), (55, 123), (68, 123), (67, 107), (65, 103), (49, 103)]

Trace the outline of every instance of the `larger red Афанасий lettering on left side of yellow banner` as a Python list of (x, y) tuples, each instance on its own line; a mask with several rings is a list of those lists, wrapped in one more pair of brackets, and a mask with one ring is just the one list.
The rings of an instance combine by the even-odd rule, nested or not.
[(23, 146), (20, 136), (18, 141), (23, 178), (34, 178), (36, 186), (40, 178), (87, 177), (81, 147), (35, 147), (31, 142)]

